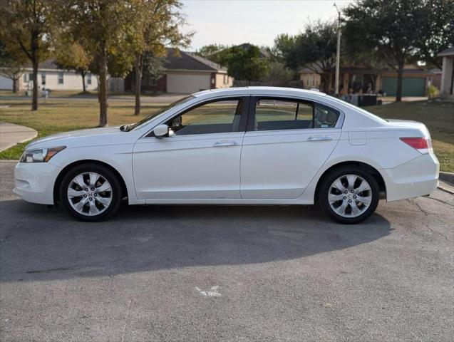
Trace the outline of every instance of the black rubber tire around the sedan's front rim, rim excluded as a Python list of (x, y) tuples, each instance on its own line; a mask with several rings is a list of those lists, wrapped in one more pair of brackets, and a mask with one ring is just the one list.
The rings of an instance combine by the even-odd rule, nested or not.
[[(80, 175), (83, 172), (96, 172), (98, 173), (98, 175), (104, 177), (105, 180), (108, 180), (108, 182), (110, 183), (110, 187), (112, 190), (111, 202), (108, 205), (108, 207), (100, 214), (96, 214), (93, 216), (81, 214), (77, 212), (76, 209), (74, 209), (69, 203), (67, 192), (70, 182), (72, 182), (74, 177)], [(66, 172), (66, 175), (63, 176), (63, 179), (61, 181), (59, 193), (61, 203), (63, 203), (63, 206), (66, 208), (66, 210), (71, 215), (73, 215), (73, 217), (76, 217), (76, 219), (80, 219), (81, 221), (85, 222), (98, 222), (104, 219), (108, 219), (113, 214), (115, 214), (115, 212), (118, 211), (118, 208), (120, 207), (121, 204), (121, 199), (123, 198), (120, 180), (118, 180), (118, 176), (115, 175), (115, 172), (110, 170), (108, 167), (94, 163), (77, 165), (76, 167), (73, 167), (71, 170)]]

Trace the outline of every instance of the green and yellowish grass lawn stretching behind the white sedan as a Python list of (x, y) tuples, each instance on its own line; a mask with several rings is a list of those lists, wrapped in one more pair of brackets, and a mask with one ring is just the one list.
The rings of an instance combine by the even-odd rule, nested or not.
[[(7, 106), (7, 107), (6, 107)], [(162, 103), (145, 103), (142, 115), (135, 116), (133, 102), (109, 103), (109, 125), (134, 123), (146, 115), (155, 113)], [(441, 170), (454, 172), (454, 103), (408, 102), (377, 105), (366, 108), (382, 118), (416, 120), (430, 130), (435, 154), (440, 160)], [(30, 100), (1, 100), (0, 121), (26, 125), (38, 131), (38, 138), (53, 133), (93, 128), (98, 125), (98, 102), (96, 100), (46, 100), (36, 112), (30, 110)], [(19, 159), (24, 145), (19, 144), (0, 152), (0, 159)]]

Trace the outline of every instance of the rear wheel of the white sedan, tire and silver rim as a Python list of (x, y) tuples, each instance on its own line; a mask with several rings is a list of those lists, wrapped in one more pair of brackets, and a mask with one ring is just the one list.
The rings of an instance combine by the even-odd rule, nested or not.
[(336, 221), (358, 223), (375, 211), (380, 189), (375, 178), (358, 167), (329, 172), (319, 187), (319, 204)]

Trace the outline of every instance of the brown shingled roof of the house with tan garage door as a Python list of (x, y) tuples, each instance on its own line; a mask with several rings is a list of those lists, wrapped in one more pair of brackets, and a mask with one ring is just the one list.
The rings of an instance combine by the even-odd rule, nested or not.
[(174, 48), (167, 48), (164, 68), (167, 70), (195, 70), (195, 71), (225, 71), (227, 68), (187, 51), (176, 52)]

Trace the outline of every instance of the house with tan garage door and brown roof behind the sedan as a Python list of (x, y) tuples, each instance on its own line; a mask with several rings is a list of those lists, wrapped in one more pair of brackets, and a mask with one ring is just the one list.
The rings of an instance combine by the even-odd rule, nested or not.
[[(164, 69), (164, 75), (158, 79), (143, 73), (143, 92), (190, 94), (233, 85), (233, 78), (227, 75), (226, 68), (187, 51), (167, 48)], [(125, 90), (134, 89), (135, 73), (132, 72), (125, 78)]]

